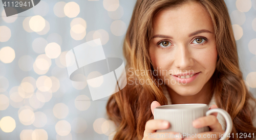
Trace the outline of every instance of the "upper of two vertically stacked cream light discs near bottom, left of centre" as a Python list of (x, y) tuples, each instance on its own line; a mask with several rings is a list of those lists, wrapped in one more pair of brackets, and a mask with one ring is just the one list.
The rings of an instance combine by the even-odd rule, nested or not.
[(69, 115), (69, 107), (64, 103), (57, 103), (53, 107), (53, 114), (58, 119), (66, 118)]

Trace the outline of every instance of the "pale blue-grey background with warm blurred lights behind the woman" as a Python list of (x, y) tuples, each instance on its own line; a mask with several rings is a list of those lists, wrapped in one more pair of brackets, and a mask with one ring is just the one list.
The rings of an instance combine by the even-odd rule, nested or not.
[[(240, 67), (256, 97), (256, 0), (226, 0)], [(122, 58), (136, 0), (41, 1), (6, 17), (0, 4), (0, 139), (112, 139), (108, 97), (92, 101), (85, 81), (68, 78), (66, 53), (100, 38)]]

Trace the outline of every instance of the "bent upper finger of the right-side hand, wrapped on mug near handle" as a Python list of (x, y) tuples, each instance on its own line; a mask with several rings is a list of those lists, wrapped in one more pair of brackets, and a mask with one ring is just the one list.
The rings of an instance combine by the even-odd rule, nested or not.
[(214, 115), (201, 117), (193, 121), (195, 128), (209, 126), (212, 131), (222, 131), (222, 126)]

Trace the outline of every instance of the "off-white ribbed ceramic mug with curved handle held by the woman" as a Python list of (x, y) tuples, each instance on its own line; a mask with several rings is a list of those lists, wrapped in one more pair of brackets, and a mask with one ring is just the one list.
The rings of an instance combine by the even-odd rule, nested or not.
[(209, 109), (208, 105), (203, 103), (162, 105), (154, 108), (154, 119), (166, 120), (170, 123), (168, 129), (157, 130), (157, 132), (173, 131), (185, 133), (186, 135), (195, 135), (209, 131), (209, 127), (195, 128), (192, 122), (212, 113), (220, 113), (226, 120), (226, 131), (224, 136), (220, 138), (220, 140), (224, 140), (231, 132), (233, 123), (230, 115), (221, 108)]

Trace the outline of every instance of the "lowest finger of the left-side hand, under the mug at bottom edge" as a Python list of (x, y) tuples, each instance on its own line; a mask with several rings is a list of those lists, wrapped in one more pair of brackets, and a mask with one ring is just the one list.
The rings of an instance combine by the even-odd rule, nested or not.
[(157, 140), (181, 140), (182, 133), (178, 132), (155, 132), (155, 133), (149, 133), (148, 135), (144, 135), (147, 138), (150, 139), (157, 139)]

